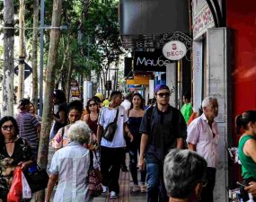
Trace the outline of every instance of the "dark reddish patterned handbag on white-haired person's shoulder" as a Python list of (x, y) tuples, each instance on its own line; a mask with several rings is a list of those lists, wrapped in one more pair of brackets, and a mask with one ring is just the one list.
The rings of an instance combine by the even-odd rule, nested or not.
[(98, 197), (102, 194), (102, 174), (99, 169), (93, 167), (93, 151), (90, 150), (90, 166), (88, 170), (89, 194)]

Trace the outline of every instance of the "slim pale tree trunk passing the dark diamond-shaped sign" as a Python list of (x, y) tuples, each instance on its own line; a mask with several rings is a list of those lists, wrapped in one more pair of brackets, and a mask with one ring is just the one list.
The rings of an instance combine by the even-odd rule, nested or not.
[(25, 14), (25, 1), (20, 0), (20, 13), (19, 13), (19, 82), (18, 82), (18, 100), (20, 101), (24, 97), (24, 75), (25, 75), (25, 29), (24, 29), (24, 14)]

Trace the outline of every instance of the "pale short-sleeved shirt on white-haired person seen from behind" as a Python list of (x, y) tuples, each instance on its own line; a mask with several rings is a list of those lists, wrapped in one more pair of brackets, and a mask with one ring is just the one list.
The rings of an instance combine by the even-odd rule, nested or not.
[[(93, 158), (93, 167), (98, 164)], [(53, 201), (88, 202), (88, 170), (90, 153), (84, 146), (71, 142), (53, 155), (49, 171), (58, 176), (57, 190)]]

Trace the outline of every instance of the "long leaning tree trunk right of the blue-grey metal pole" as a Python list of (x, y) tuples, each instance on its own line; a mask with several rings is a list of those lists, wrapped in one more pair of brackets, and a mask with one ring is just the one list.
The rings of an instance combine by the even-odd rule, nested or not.
[[(49, 40), (49, 57), (46, 72), (46, 86), (43, 100), (42, 127), (40, 132), (40, 147), (38, 164), (41, 168), (46, 169), (49, 154), (49, 132), (52, 121), (52, 100), (51, 94), (54, 90), (55, 72), (57, 68), (57, 47), (60, 38), (60, 22), (61, 22), (62, 0), (53, 1), (53, 12), (51, 20), (51, 31)], [(41, 195), (43, 196), (43, 195)], [(42, 202), (43, 198), (38, 201)]]

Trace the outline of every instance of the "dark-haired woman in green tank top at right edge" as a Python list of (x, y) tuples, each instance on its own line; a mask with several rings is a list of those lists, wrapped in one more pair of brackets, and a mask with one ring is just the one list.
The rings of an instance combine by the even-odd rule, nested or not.
[[(240, 137), (238, 145), (243, 184), (247, 186), (246, 190), (253, 193), (253, 182), (256, 182), (256, 110), (246, 110), (243, 114), (236, 116), (235, 125), (239, 136), (241, 135), (241, 127), (243, 127), (243, 135)], [(249, 200), (248, 192), (244, 191), (243, 188), (241, 188), (241, 194), (243, 201)], [(255, 193), (253, 195), (253, 199), (256, 201)]]

